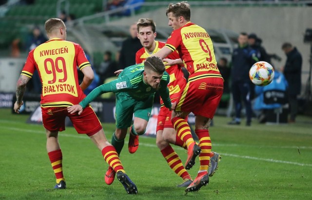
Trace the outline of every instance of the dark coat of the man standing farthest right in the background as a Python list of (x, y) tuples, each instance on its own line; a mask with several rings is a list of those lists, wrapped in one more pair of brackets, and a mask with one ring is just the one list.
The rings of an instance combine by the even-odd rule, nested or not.
[(286, 56), (284, 75), (289, 84), (288, 93), (298, 95), (301, 91), (302, 56), (296, 48), (293, 48)]

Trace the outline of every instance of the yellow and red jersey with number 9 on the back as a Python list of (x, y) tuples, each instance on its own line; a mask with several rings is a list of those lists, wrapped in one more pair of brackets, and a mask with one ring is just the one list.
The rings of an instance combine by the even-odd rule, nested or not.
[(212, 40), (202, 27), (188, 22), (172, 32), (165, 46), (173, 52), (178, 51), (190, 77), (203, 74), (221, 77), (215, 60)]

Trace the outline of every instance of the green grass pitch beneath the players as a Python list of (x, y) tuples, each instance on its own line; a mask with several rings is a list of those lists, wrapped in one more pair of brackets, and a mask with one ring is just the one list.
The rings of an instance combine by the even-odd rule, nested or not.
[[(198, 192), (176, 188), (182, 180), (169, 168), (156, 139), (140, 137), (135, 154), (126, 137), (120, 159), (137, 184), (128, 195), (116, 179), (104, 182), (108, 167), (100, 151), (85, 135), (67, 127), (59, 133), (66, 190), (54, 190), (42, 125), (26, 124), (28, 116), (0, 109), (0, 199), (5, 200), (258, 200), (312, 199), (312, 118), (299, 116), (290, 125), (230, 126), (216, 116), (210, 127), (213, 150), (221, 154), (219, 169)], [(109, 141), (114, 124), (103, 124)], [(183, 164), (186, 151), (174, 147)], [(195, 178), (199, 161), (189, 171)]]

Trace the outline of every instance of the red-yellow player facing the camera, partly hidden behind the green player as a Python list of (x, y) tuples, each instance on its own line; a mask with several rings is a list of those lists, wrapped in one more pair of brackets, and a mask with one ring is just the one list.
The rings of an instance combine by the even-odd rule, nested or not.
[[(158, 52), (165, 46), (164, 42), (155, 40), (156, 25), (153, 19), (140, 18), (137, 21), (137, 37), (139, 38), (142, 48), (137, 51), (136, 63), (142, 63), (147, 57)], [(177, 52), (168, 55), (169, 59), (179, 59)], [(181, 67), (178, 65), (166, 66), (166, 71), (170, 75), (170, 82), (168, 84), (171, 102), (177, 101), (181, 95), (184, 87), (186, 86), (186, 79), (182, 72)], [(166, 108), (163, 100), (160, 98), (160, 111), (157, 118), (156, 127), (156, 145), (160, 149), (163, 157), (166, 159), (170, 168), (183, 179), (183, 183), (177, 187), (187, 187), (191, 184), (192, 179), (190, 174), (185, 170), (179, 156), (170, 144), (185, 146), (185, 143), (176, 135), (176, 130), (171, 123), (172, 110)], [(184, 146), (183, 146), (184, 145)]]

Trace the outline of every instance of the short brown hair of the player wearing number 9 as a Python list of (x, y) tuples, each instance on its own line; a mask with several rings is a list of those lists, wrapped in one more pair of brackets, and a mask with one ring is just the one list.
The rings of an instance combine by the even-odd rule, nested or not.
[(190, 4), (187, 1), (181, 1), (176, 4), (170, 3), (166, 10), (166, 15), (168, 16), (169, 13), (172, 13), (175, 18), (182, 16), (189, 21), (191, 19)]

